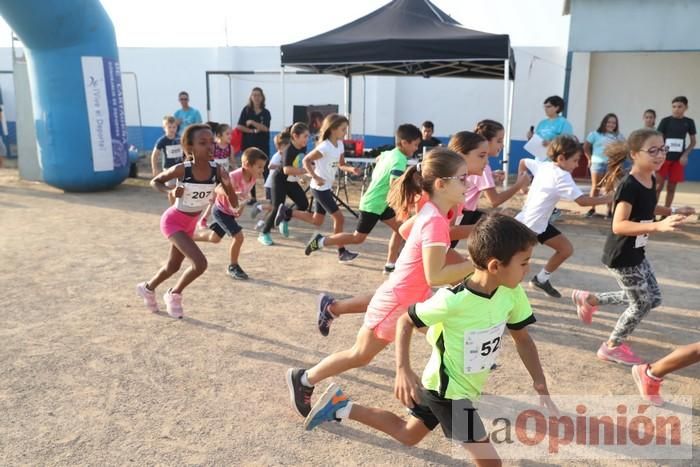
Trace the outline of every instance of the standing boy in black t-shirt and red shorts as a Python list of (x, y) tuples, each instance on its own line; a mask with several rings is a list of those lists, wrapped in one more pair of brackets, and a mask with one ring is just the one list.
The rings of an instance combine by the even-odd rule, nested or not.
[[(666, 186), (666, 203), (670, 208), (673, 197), (676, 194), (676, 185), (685, 181), (685, 166), (688, 165), (688, 156), (695, 148), (695, 122), (685, 116), (688, 110), (688, 99), (685, 96), (674, 97), (671, 101), (671, 115), (664, 117), (659, 123), (658, 131), (664, 135), (664, 141), (668, 146), (666, 161), (656, 173), (658, 186), (657, 198), (661, 199), (661, 192)], [(685, 145), (686, 135), (690, 135), (690, 144)]]

